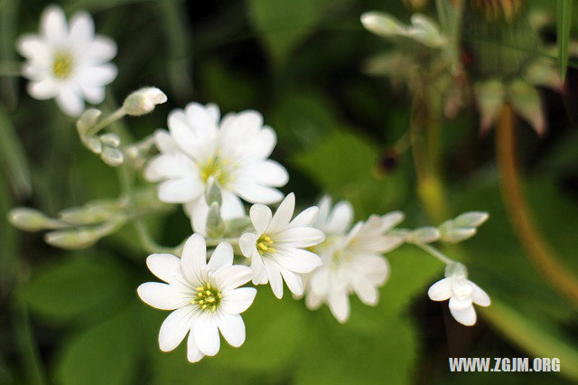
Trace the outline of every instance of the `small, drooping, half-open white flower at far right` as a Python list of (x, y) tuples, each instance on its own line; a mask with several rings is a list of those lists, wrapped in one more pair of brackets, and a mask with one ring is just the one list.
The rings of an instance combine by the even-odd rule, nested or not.
[(467, 279), (465, 268), (461, 265), (456, 267), (448, 266), (445, 278), (434, 283), (427, 290), (427, 295), (433, 301), (450, 299), (450, 313), (453, 318), (460, 324), (471, 326), (476, 323), (473, 304), (489, 306), (489, 296), (480, 286)]

